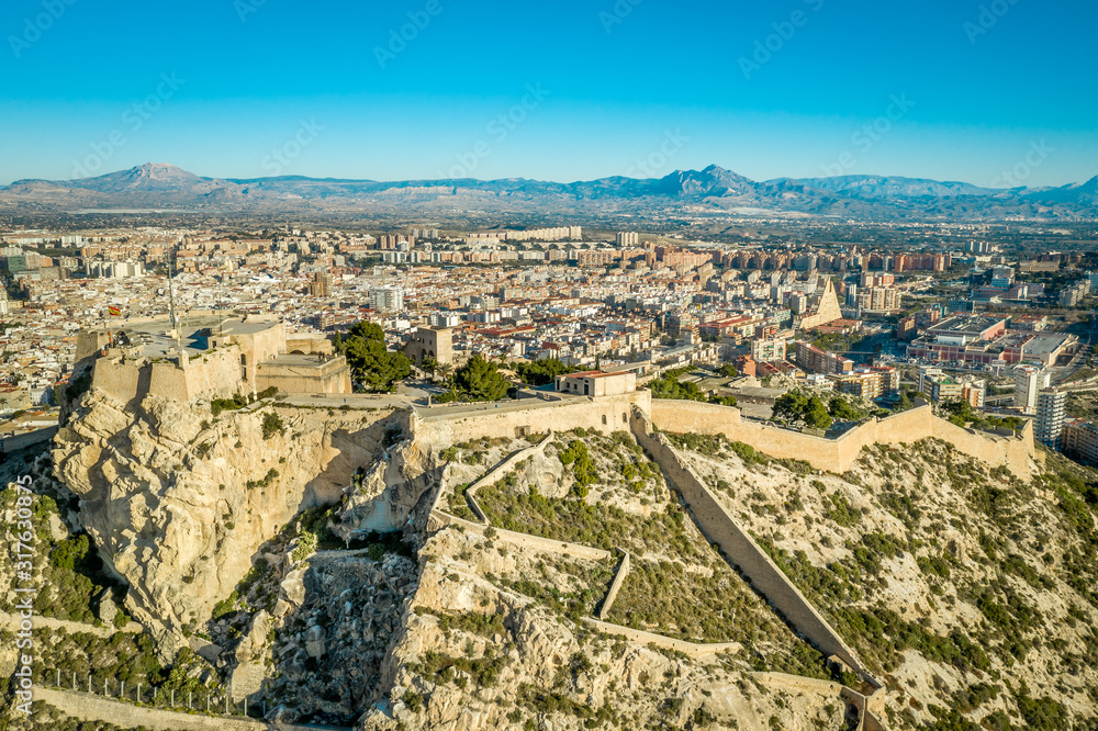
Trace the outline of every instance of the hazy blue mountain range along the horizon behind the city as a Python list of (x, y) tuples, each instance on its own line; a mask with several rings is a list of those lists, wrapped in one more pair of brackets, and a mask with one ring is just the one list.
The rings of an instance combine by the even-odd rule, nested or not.
[(211, 213), (811, 215), (866, 220), (1098, 217), (1098, 176), (1058, 188), (989, 189), (888, 176), (755, 181), (712, 165), (663, 178), (572, 183), (525, 178), (379, 182), (281, 176), (202, 178), (148, 162), (78, 180), (19, 180), (0, 188), (0, 212), (187, 210)]

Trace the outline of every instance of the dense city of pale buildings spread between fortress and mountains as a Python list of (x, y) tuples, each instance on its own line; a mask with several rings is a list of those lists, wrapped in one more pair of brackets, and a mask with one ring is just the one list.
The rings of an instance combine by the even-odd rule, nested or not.
[[(925, 224), (828, 241), (856, 234), (769, 227), (735, 244), (576, 225), (7, 230), (10, 420), (0, 430), (56, 424), (55, 394), (72, 376), (80, 328), (223, 313), (273, 315), (290, 333), (328, 337), (371, 322), (392, 351), (430, 333), (445, 345), (427, 367), (413, 357), (414, 374), (381, 387), (418, 397), (444, 394), (474, 356), (507, 369), (512, 386), (524, 385), (514, 364), (538, 361), (561, 372), (676, 371), (701, 384), (697, 397), (753, 404), (757, 418), (773, 418), (789, 390), (824, 401), (844, 394), (882, 412), (918, 395), (941, 409), (963, 402), (964, 416), (985, 425), (1033, 419), (1041, 443), (1098, 460), (1098, 428), (1085, 418), (1098, 380), (1098, 254), (1075, 244), (1026, 250), (1017, 238), (1019, 229), (1085, 233), (1030, 225), (1011, 237), (1009, 226)], [(904, 236), (919, 244), (905, 248), (895, 240)], [(355, 376), (356, 391), (378, 390)]]

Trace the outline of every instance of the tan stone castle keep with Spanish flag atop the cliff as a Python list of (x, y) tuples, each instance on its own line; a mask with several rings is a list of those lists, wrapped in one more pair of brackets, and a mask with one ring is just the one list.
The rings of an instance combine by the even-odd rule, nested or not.
[(81, 330), (77, 370), (125, 404), (153, 394), (184, 403), (258, 393), (351, 392), (350, 370), (320, 334), (288, 335), (271, 316), (224, 313), (127, 319)]

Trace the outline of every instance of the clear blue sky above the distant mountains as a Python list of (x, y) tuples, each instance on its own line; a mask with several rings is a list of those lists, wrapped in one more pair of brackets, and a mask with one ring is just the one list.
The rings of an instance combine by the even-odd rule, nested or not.
[(1095, 37), (1091, 0), (8, 0), (0, 183), (149, 160), (1082, 182), (1098, 175)]

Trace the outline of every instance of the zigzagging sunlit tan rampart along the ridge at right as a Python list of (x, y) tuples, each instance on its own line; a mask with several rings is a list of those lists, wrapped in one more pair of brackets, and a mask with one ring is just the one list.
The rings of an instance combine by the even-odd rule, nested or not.
[(692, 401), (651, 401), (652, 424), (676, 434), (724, 435), (778, 459), (804, 460), (817, 470), (845, 472), (870, 445), (914, 443), (937, 438), (957, 451), (1002, 465), (1028, 479), (1035, 457), (1032, 424), (1027, 421), (1018, 436), (964, 429), (933, 415), (929, 404), (878, 419), (871, 418), (837, 439), (826, 439), (782, 427), (747, 421), (740, 411)]

